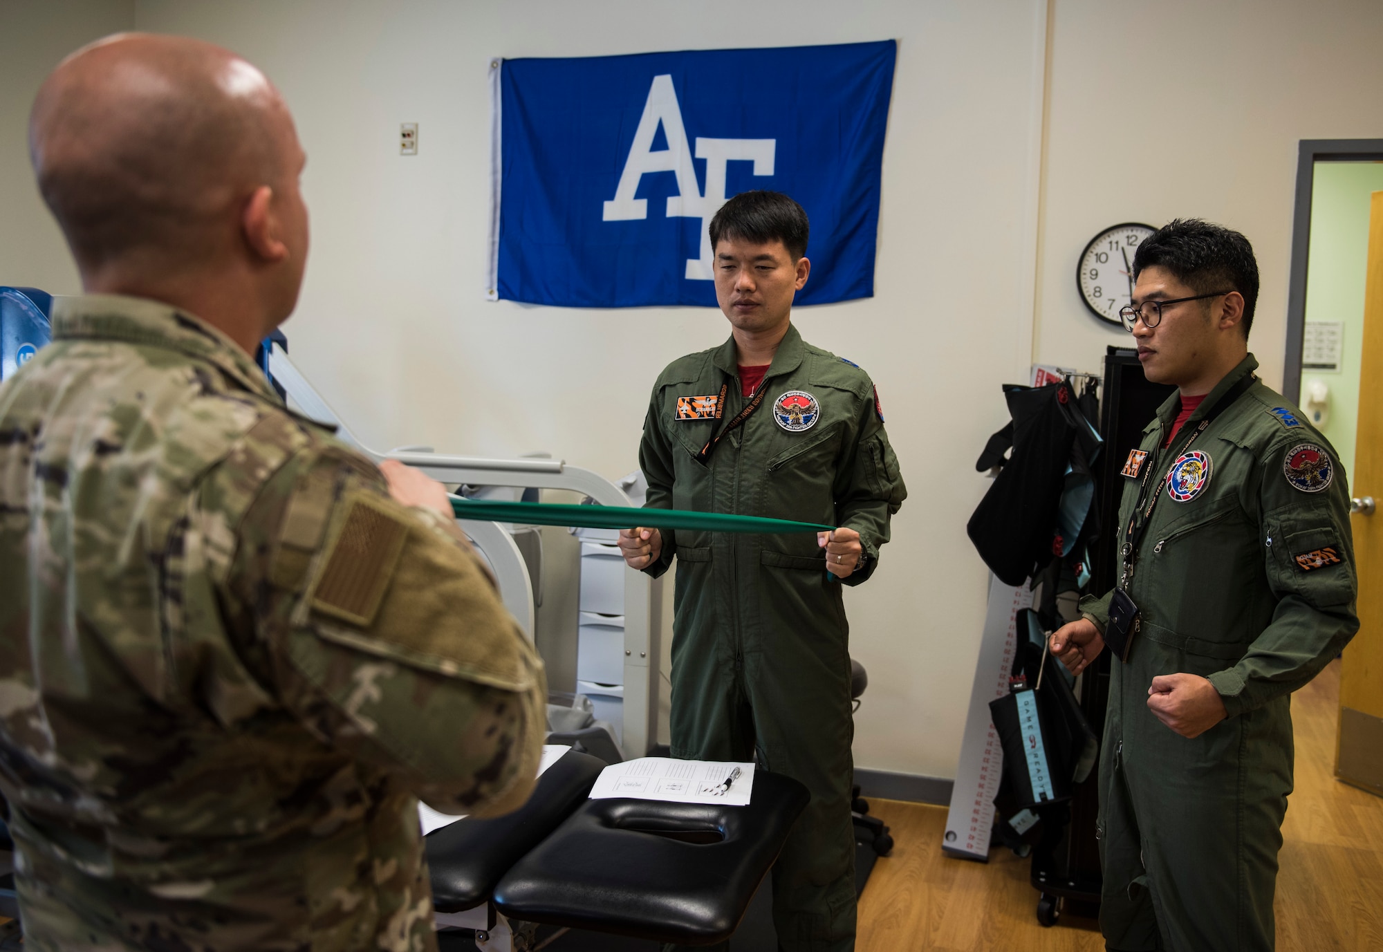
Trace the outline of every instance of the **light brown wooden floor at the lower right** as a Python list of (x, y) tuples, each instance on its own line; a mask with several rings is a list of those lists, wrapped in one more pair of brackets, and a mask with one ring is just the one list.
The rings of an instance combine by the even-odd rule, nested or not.
[[(1278, 873), (1278, 949), (1383, 949), (1383, 798), (1333, 778), (1340, 663), (1292, 699), (1296, 793), (1288, 801)], [(892, 827), (859, 909), (859, 952), (1104, 949), (1093, 920), (1037, 924), (1028, 861), (1008, 850), (989, 863), (942, 854), (943, 807), (870, 800)]]

